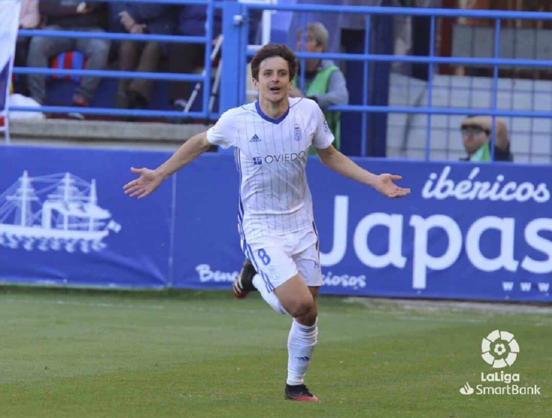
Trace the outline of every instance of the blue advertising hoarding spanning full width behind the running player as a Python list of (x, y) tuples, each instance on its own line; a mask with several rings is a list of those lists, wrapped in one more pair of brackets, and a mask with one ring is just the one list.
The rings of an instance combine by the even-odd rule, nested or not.
[[(146, 199), (123, 194), (130, 166), (168, 156), (0, 148), (0, 279), (230, 289), (243, 261), (233, 158), (206, 154)], [(412, 194), (388, 199), (309, 160), (322, 293), (551, 300), (551, 167), (355, 161)]]

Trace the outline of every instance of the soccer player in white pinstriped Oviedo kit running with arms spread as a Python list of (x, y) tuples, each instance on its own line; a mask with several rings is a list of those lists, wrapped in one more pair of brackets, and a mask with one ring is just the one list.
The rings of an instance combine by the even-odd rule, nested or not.
[(242, 272), (235, 293), (243, 297), (257, 289), (275, 310), (293, 317), (285, 398), (318, 401), (304, 384), (316, 345), (316, 298), (322, 284), (305, 176), (309, 146), (333, 171), (390, 198), (403, 197), (410, 189), (392, 182), (400, 176), (372, 174), (331, 145), (333, 135), (316, 102), (289, 97), (297, 65), (287, 46), (262, 47), (251, 61), (258, 101), (227, 110), (212, 128), (184, 142), (155, 170), (131, 168), (140, 177), (124, 190), (130, 197), (144, 198), (211, 145), (233, 147), (240, 174), (238, 230), (242, 250), (254, 266), (250, 274)]

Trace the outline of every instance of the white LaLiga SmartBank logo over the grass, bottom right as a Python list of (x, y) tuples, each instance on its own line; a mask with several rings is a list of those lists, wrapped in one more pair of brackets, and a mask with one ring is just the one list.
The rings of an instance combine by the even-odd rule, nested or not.
[[(481, 341), (481, 358), (495, 369), (511, 367), (519, 354), (519, 344), (508, 331), (494, 330)], [(537, 385), (524, 386), (519, 382), (519, 373), (481, 372), (480, 384), (475, 389), (468, 382), (460, 388), (463, 395), (540, 395)]]

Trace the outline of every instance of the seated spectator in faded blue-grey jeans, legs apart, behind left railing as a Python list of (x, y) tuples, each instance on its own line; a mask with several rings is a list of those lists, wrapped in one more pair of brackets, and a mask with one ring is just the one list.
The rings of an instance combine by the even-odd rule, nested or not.
[[(103, 32), (107, 27), (107, 6), (104, 3), (87, 3), (78, 0), (40, 0), (40, 15), (46, 18), (46, 30), (78, 30)], [(61, 52), (77, 50), (87, 57), (86, 70), (104, 70), (109, 55), (109, 40), (82, 38), (50, 38), (35, 36), (30, 41), (27, 65), (48, 66), (50, 57)], [(99, 77), (82, 77), (73, 95), (73, 106), (84, 107), (94, 96), (100, 82)], [(44, 76), (29, 75), (30, 96), (40, 104), (46, 100)], [(80, 113), (68, 115), (84, 119)]]

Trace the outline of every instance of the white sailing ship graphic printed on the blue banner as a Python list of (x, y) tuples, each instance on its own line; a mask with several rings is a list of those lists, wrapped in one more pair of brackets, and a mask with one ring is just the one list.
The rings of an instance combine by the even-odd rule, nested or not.
[[(35, 189), (38, 184), (44, 187)], [(102, 250), (102, 240), (121, 226), (97, 202), (95, 179), (88, 183), (71, 173), (29, 177), (24, 171), (0, 194), (0, 245), (27, 251)]]

